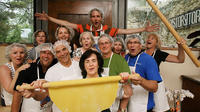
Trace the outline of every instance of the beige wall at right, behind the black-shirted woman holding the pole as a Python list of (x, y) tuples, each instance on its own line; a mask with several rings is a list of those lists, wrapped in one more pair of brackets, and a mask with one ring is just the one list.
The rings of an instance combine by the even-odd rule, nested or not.
[[(177, 55), (176, 50), (164, 50), (170, 54)], [(192, 51), (198, 57), (200, 51)], [(175, 64), (164, 62), (160, 65), (160, 72), (164, 79), (165, 86), (170, 89), (181, 89), (181, 75), (200, 75), (200, 67), (196, 67), (186, 54), (185, 63)]]

